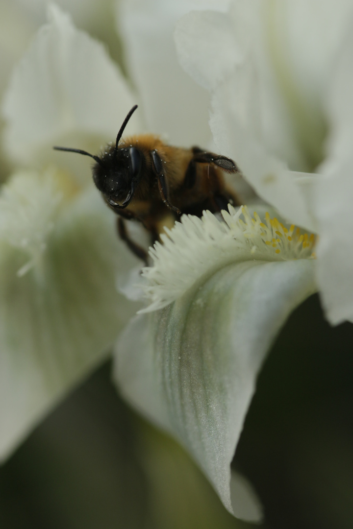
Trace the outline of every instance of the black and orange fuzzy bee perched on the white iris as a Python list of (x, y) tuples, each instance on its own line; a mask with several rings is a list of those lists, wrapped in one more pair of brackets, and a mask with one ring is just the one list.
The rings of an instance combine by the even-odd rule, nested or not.
[(184, 213), (201, 216), (204, 209), (215, 213), (229, 203), (239, 205), (223, 176), (223, 171), (239, 170), (230, 158), (199, 147), (171, 147), (153, 134), (122, 140), (137, 107), (134, 105), (125, 117), (115, 144), (108, 144), (100, 156), (67, 147), (54, 149), (77, 152), (95, 160), (93, 180), (106, 204), (119, 215), (117, 229), (121, 239), (147, 263), (146, 250), (130, 239), (124, 220), (140, 221), (151, 233), (153, 243), (165, 226), (171, 227)]

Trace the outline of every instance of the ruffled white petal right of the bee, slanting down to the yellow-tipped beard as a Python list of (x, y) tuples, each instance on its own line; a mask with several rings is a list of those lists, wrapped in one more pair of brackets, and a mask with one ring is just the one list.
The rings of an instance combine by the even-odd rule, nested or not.
[(283, 217), (313, 231), (307, 201), (288, 170), (305, 162), (266, 56), (265, 33), (258, 2), (233, 2), (228, 15), (185, 15), (176, 43), (186, 71), (212, 90), (210, 126), (218, 150), (236, 160), (259, 196)]

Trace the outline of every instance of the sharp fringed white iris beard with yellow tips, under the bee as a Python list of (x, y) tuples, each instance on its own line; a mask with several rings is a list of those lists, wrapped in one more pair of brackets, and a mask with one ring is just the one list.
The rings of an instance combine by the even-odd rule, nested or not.
[(287, 228), (269, 213), (263, 222), (247, 206), (228, 209), (222, 211), (225, 222), (204, 211), (202, 218), (183, 215), (173, 229), (166, 229), (163, 244), (149, 250), (154, 266), (142, 270), (148, 280), (142, 288), (152, 303), (140, 312), (165, 307), (196, 281), (232, 263), (315, 258), (313, 234), (303, 234), (294, 225)]

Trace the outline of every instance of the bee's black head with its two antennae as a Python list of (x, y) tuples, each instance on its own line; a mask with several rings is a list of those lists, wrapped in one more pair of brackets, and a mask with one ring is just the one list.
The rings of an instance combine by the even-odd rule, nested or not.
[(117, 133), (115, 147), (107, 149), (102, 157), (94, 156), (94, 154), (80, 149), (54, 147), (58, 151), (77, 152), (95, 160), (96, 163), (92, 170), (94, 183), (103, 193), (107, 203), (114, 208), (124, 208), (130, 204), (141, 176), (141, 151), (135, 147), (118, 147), (125, 126), (136, 109), (137, 105), (134, 105), (125, 117), (120, 131)]

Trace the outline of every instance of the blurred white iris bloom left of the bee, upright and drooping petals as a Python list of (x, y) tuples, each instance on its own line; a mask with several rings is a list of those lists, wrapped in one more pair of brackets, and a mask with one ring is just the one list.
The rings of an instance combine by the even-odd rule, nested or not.
[[(98, 152), (134, 101), (103, 45), (52, 5), (3, 101), (3, 145), (23, 168), (0, 192), (0, 458), (106, 358), (136, 311), (115, 284), (137, 259), (88, 163), (52, 149)], [(137, 116), (130, 130), (139, 126)]]

